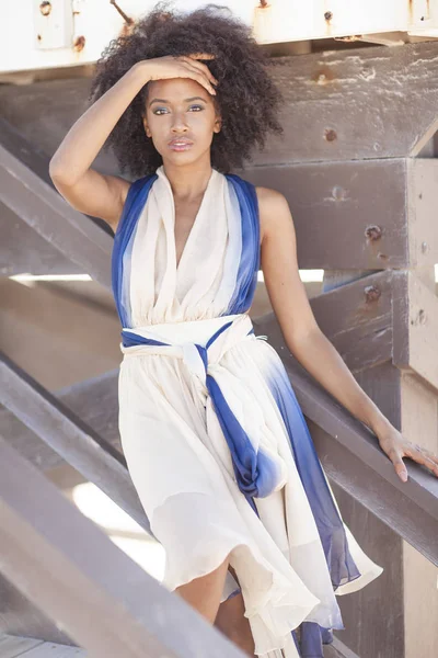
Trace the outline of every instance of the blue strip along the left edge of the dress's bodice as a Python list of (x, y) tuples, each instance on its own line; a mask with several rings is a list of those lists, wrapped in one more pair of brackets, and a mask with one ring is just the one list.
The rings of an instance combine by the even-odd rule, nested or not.
[(122, 322), (122, 327), (131, 327), (131, 309), (129, 299), (130, 266), (124, 263), (130, 260), (134, 229), (148, 198), (155, 173), (145, 175), (130, 184), (122, 216), (114, 236), (112, 252), (112, 286), (113, 295)]

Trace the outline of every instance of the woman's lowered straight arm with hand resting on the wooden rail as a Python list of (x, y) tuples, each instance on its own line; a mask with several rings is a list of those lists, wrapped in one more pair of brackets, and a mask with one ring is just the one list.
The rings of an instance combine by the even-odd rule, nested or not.
[(293, 219), (285, 196), (256, 188), (262, 232), (261, 266), (266, 291), (287, 347), (303, 367), (377, 435), (402, 481), (402, 457), (423, 464), (438, 477), (438, 457), (399, 432), (359, 386), (316, 324), (300, 279)]

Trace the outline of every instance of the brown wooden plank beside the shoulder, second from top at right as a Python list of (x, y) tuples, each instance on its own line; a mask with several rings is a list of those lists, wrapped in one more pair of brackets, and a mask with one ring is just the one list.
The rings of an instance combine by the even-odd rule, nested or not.
[(240, 173), (286, 196), (301, 269), (410, 266), (405, 160), (267, 164)]

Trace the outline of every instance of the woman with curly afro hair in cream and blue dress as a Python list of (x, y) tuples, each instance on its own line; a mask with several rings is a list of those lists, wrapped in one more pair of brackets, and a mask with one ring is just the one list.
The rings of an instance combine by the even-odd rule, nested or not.
[[(391, 426), (321, 333), (285, 197), (230, 174), (280, 133), (250, 30), (160, 5), (97, 63), (50, 175), (115, 232), (120, 439), (166, 553), (164, 585), (264, 658), (321, 656), (336, 594), (382, 571), (343, 523), (283, 363), (249, 309), (262, 266), (288, 348), (370, 427), (397, 475), (438, 460)], [(105, 141), (120, 177), (91, 164)]]

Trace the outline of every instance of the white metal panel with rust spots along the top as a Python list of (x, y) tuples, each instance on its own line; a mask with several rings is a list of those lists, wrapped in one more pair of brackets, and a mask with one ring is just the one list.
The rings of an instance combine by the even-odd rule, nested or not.
[[(438, 33), (437, 0), (222, 0), (220, 4), (251, 26), (263, 44)], [(155, 0), (10, 2), (2, 16), (0, 72), (95, 61), (111, 39), (154, 5)], [(189, 11), (205, 2), (176, 0), (175, 5)]]

